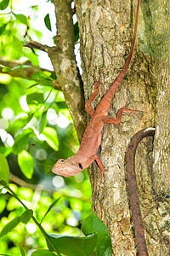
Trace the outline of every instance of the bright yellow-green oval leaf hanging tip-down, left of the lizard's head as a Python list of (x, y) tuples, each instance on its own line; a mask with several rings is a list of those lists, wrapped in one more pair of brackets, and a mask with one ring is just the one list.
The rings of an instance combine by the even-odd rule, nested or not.
[(27, 178), (31, 178), (34, 172), (34, 160), (26, 150), (22, 150), (18, 154), (18, 163), (20, 170), (24, 173)]

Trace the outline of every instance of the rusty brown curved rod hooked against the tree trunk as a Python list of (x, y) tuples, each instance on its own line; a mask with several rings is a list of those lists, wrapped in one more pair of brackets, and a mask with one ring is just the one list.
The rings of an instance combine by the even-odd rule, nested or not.
[(155, 128), (147, 128), (137, 132), (131, 139), (128, 145), (127, 155), (126, 155), (126, 169), (127, 169), (127, 187), (128, 194), (131, 204), (131, 211), (133, 217), (133, 227), (135, 233), (135, 240), (138, 247), (140, 256), (147, 256), (147, 247), (144, 239), (144, 226), (142, 221), (142, 215), (139, 205), (139, 191), (136, 182), (135, 174), (135, 154), (139, 142), (144, 137), (155, 135)]

